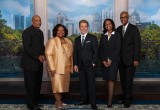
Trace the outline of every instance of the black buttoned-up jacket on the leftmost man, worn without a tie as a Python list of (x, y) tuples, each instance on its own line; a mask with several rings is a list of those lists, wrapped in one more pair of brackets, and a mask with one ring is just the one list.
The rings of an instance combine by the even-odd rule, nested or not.
[(33, 26), (25, 29), (23, 38), (23, 56), (21, 67), (24, 70), (37, 71), (43, 64), (39, 61), (39, 56), (44, 55), (44, 36), (40, 29)]

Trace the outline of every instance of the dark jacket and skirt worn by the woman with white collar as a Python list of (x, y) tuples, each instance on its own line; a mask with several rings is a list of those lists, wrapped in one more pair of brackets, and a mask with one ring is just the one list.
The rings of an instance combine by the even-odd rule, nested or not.
[(105, 67), (102, 64), (102, 75), (104, 80), (116, 80), (118, 73), (118, 66), (120, 60), (120, 49), (121, 49), (121, 37), (116, 31), (112, 33), (108, 40), (108, 35), (103, 34), (100, 40), (100, 57), (101, 62), (110, 59), (112, 64), (109, 67)]

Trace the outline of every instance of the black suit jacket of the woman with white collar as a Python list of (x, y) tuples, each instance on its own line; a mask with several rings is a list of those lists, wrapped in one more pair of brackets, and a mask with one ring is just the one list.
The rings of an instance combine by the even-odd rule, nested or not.
[(101, 61), (107, 61), (108, 58), (114, 63), (119, 61), (119, 53), (121, 49), (121, 36), (115, 31), (108, 40), (107, 35), (102, 35), (100, 40), (100, 56)]

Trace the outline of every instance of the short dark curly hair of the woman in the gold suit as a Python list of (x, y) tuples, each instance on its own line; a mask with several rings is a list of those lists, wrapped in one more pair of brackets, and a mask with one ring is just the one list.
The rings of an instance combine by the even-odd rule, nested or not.
[(53, 28), (53, 30), (52, 30), (52, 35), (53, 35), (53, 37), (56, 37), (57, 36), (57, 31), (58, 31), (58, 28), (59, 27), (63, 27), (64, 28), (64, 36), (63, 37), (67, 37), (67, 35), (68, 35), (68, 29), (64, 26), (64, 25), (62, 25), (62, 24), (57, 24), (54, 28)]

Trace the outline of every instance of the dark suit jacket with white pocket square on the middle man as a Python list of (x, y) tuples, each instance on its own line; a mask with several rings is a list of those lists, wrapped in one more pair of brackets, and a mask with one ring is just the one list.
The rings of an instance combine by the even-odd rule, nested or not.
[(74, 42), (74, 65), (79, 68), (92, 66), (96, 64), (98, 57), (98, 41), (96, 36), (87, 34), (83, 46), (81, 45), (81, 36), (78, 36)]

